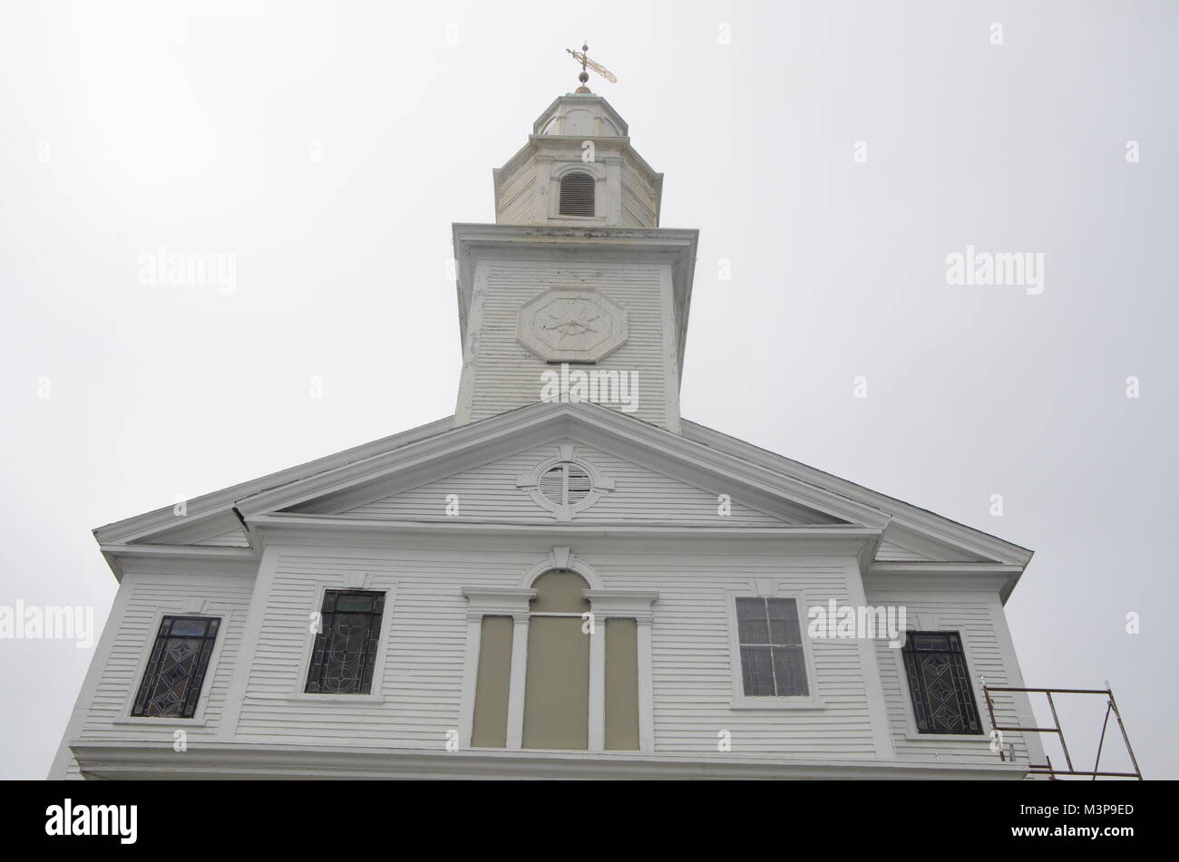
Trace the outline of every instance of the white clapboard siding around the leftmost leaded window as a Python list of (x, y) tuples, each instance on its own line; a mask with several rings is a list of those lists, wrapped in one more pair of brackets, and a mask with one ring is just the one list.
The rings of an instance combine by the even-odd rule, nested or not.
[[(88, 708), (86, 721), (79, 734), (84, 741), (124, 740), (160, 741), (171, 740), (173, 727), (151, 724), (150, 721), (134, 724), (117, 724), (125, 718), (129, 697), (138, 690), (141, 658), (151, 649), (158, 628), (158, 612), (190, 612), (195, 601), (208, 601), (204, 615), (223, 618), (217, 642), (217, 667), (205, 679), (200, 702), (204, 704), (203, 725), (187, 728), (192, 741), (210, 740), (217, 732), (225, 695), (229, 689), (233, 664), (241, 648), (245, 625), (252, 578), (216, 577), (198, 575), (143, 575), (127, 573), (119, 590), (129, 590), (126, 610), (119, 619), (111, 618), (107, 625), (118, 626), (118, 636), (103, 668), (101, 681)], [(119, 606), (116, 602), (116, 606)], [(228, 619), (226, 617), (228, 614)]]

